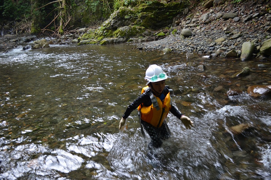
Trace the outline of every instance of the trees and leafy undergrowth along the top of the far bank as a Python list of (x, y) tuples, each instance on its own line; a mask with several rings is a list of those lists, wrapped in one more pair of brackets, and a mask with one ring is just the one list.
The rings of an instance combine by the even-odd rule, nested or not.
[[(151, 9), (151, 6), (161, 0), (1, 0), (0, 20), (27, 22), (27, 29), (31, 33), (56, 33), (62, 34), (70, 27), (82, 27), (98, 24), (114, 10), (120, 7), (139, 7), (144, 4)], [(241, 0), (235, 0), (241, 1)], [(179, 2), (172, 0), (170, 2)], [(199, 2), (199, 0), (186, 0), (186, 4)], [(163, 10), (165, 15), (171, 16), (168, 10)], [(125, 18), (149, 18), (157, 19), (151, 12), (138, 12), (125, 14)], [(173, 17), (173, 16), (171, 16)], [(161, 19), (163, 20), (163, 19)], [(80, 22), (81, 21), (81, 22)], [(29, 23), (30, 22), (30, 23)], [(76, 22), (79, 22), (76, 24)], [(81, 24), (80, 24), (81, 23)], [(144, 21), (143, 24), (150, 22)], [(30, 24), (30, 25), (29, 25)], [(83, 24), (83, 25), (82, 25)], [(142, 25), (143, 25), (142, 24)], [(136, 24), (137, 25), (137, 24)], [(139, 24), (141, 25), (141, 24)]]

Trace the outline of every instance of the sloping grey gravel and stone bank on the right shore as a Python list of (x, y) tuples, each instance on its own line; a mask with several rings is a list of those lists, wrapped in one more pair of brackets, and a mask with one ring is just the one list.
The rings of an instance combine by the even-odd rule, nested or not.
[[(255, 45), (255, 57), (263, 42), (271, 38), (270, 21), (270, 4), (266, 2), (226, 3), (217, 7), (206, 3), (180, 16), (175, 27), (167, 31), (170, 32), (169, 36), (136, 45), (141, 50), (165, 50), (166, 53), (170, 49), (175, 53), (187, 53), (188, 57), (193, 56), (190, 53), (240, 57), (242, 44), (250, 41)], [(188, 30), (188, 34), (184, 29)], [(165, 34), (167, 32), (164, 30)], [(229, 54), (232, 50), (236, 52), (233, 55)], [(271, 49), (268, 51), (258, 56), (266, 59), (271, 55)]]

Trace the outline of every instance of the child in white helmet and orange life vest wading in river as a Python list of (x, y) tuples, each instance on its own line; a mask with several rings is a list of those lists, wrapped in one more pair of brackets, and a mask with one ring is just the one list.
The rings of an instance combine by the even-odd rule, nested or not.
[(173, 90), (165, 85), (167, 78), (170, 77), (160, 66), (155, 64), (149, 66), (145, 76), (148, 86), (142, 88), (142, 94), (128, 106), (120, 120), (119, 129), (124, 126), (130, 113), (138, 108), (141, 132), (145, 137), (143, 126), (151, 137), (151, 142), (148, 144), (149, 149), (160, 147), (162, 139), (170, 137), (169, 128), (164, 121), (169, 111), (182, 121), (186, 129), (194, 126), (189, 117), (183, 115), (176, 106), (171, 104), (170, 94), (173, 94)]

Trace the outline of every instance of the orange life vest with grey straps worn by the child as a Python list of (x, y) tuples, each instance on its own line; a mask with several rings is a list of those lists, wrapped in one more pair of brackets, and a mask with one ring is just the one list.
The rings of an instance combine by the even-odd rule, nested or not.
[[(148, 95), (152, 96), (151, 89), (146, 86), (142, 88), (141, 94), (145, 91), (148, 91)], [(153, 95), (154, 96), (154, 95)], [(163, 121), (166, 119), (167, 114), (171, 108), (171, 97), (170, 92), (166, 95), (164, 102), (160, 100), (159, 97), (154, 96), (151, 98), (152, 104), (150, 106), (144, 106), (144, 104), (140, 104), (137, 108), (141, 113), (141, 119), (153, 125), (154, 127), (161, 127)], [(155, 102), (156, 101), (156, 102)]]

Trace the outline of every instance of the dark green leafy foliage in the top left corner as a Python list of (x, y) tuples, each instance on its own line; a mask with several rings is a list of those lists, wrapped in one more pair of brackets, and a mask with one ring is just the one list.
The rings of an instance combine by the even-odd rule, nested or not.
[(30, 17), (31, 6), (30, 0), (4, 0), (0, 6), (2, 17), (9, 20), (17, 20), (20, 18)]

